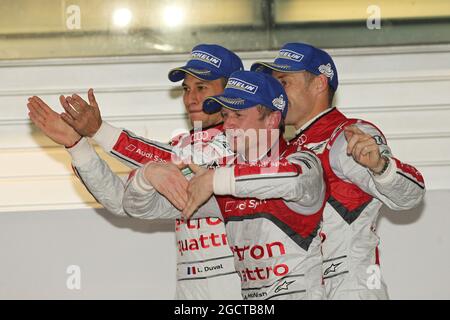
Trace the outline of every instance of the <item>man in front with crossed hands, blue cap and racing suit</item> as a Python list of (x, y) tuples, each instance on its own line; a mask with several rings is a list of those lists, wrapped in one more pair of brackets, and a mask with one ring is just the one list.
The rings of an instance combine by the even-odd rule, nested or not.
[[(190, 165), (195, 176), (183, 214), (199, 208), (193, 217), (225, 221), (244, 299), (322, 299), (319, 231), (326, 186), (314, 153), (289, 146), (278, 130), (287, 112), (283, 87), (269, 75), (237, 71), (224, 94), (207, 98), (204, 108), (222, 109), (237, 155), (215, 170)], [(123, 200), (131, 216), (181, 215), (158, 193), (158, 166), (150, 163), (131, 176)]]

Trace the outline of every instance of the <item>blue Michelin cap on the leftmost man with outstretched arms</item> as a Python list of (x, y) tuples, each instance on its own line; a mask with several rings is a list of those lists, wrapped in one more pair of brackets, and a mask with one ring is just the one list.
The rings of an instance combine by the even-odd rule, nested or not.
[(185, 66), (169, 71), (169, 80), (183, 80), (186, 73), (206, 81), (228, 79), (238, 70), (244, 70), (244, 66), (237, 54), (216, 44), (199, 44), (192, 49)]

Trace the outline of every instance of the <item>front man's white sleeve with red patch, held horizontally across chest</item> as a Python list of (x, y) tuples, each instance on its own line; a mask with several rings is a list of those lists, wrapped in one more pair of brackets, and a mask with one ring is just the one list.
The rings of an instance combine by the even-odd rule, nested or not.
[(292, 210), (314, 214), (323, 204), (325, 183), (319, 159), (298, 151), (267, 167), (240, 164), (218, 168), (214, 193), (239, 198), (283, 199)]

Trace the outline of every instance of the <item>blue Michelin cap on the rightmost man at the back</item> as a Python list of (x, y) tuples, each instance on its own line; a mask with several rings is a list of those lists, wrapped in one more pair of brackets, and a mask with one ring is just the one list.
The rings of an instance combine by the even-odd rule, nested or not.
[(333, 59), (325, 51), (306, 43), (286, 43), (278, 52), (273, 63), (255, 62), (250, 70), (272, 73), (309, 71), (315, 75), (323, 74), (335, 91), (338, 87), (337, 69)]

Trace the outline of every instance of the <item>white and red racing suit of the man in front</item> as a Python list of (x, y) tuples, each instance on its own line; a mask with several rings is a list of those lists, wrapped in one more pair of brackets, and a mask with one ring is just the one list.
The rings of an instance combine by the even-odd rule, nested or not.
[[(216, 168), (216, 195), (193, 217), (225, 221), (244, 299), (323, 299), (319, 231), (326, 187), (320, 161), (283, 139), (278, 146), (276, 161)], [(143, 170), (130, 179), (123, 205), (142, 219), (180, 216)]]

